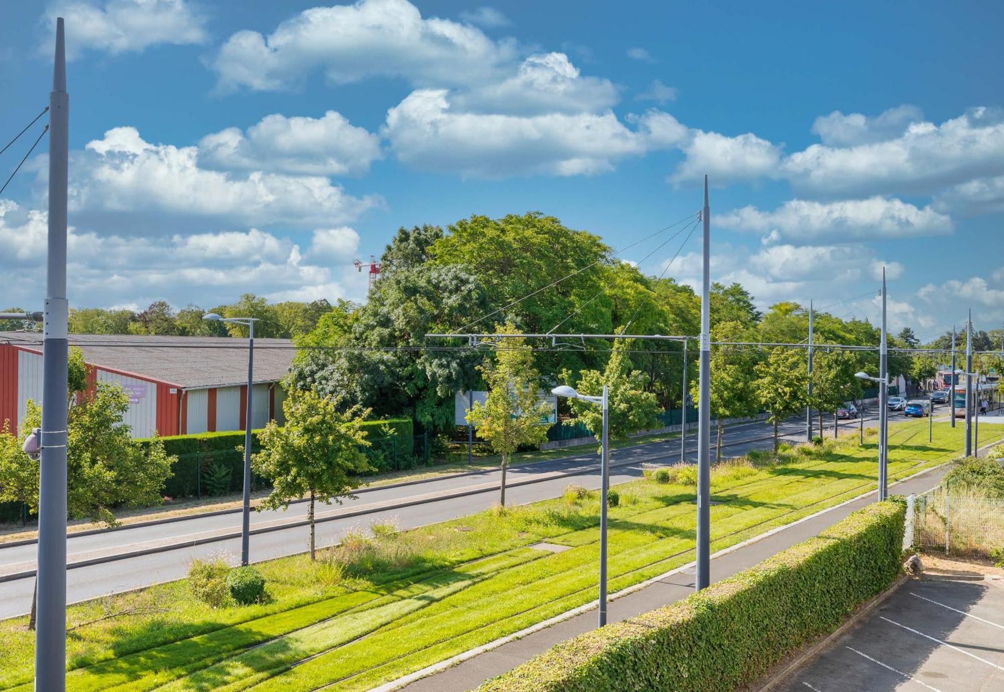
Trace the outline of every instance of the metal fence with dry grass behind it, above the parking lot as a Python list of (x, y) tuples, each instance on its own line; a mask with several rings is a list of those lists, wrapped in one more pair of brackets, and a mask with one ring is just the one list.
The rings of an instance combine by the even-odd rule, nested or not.
[(1004, 548), (1004, 499), (947, 494), (941, 489), (914, 502), (914, 546), (948, 555), (987, 555)]

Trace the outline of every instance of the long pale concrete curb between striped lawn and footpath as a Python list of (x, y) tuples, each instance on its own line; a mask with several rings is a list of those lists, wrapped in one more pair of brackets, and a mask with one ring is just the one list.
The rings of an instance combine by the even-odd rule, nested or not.
[[(935, 469), (938, 469), (938, 468), (941, 468), (942, 466), (945, 466), (946, 464), (949, 464), (949, 463), (951, 463), (951, 461), (945, 461), (944, 463), (939, 463), (939, 464), (931, 466), (929, 468), (925, 468), (924, 470), (918, 471), (917, 473), (912, 473), (911, 475), (908, 475), (905, 478), (900, 478), (899, 480), (891, 483), (891, 485), (898, 485), (900, 483), (903, 483), (903, 482), (906, 482), (906, 481), (910, 480), (911, 478), (916, 478), (919, 475), (924, 475), (925, 473), (930, 473), (931, 471), (933, 471)], [(754, 543), (757, 543), (759, 541), (763, 541), (764, 539), (770, 538), (771, 536), (774, 536), (775, 534), (779, 534), (782, 531), (787, 531), (788, 529), (791, 529), (792, 527), (796, 527), (799, 524), (802, 524), (804, 522), (808, 522), (810, 520), (813, 520), (816, 516), (820, 516), (821, 514), (824, 514), (824, 513), (826, 513), (828, 511), (832, 511), (833, 509), (838, 509), (839, 507), (842, 507), (842, 506), (844, 506), (846, 504), (849, 504), (850, 502), (854, 502), (854, 501), (856, 501), (858, 499), (861, 499), (863, 497), (867, 497), (870, 494), (874, 494), (876, 491), (877, 490), (868, 490), (867, 492), (863, 492), (863, 493), (861, 493), (859, 495), (855, 495), (854, 497), (850, 497), (849, 499), (845, 499), (845, 500), (843, 500), (842, 502), (840, 502), (838, 504), (834, 504), (833, 506), (825, 507), (824, 509), (820, 509), (819, 511), (815, 511), (815, 512), (813, 512), (811, 514), (808, 514), (806, 516), (803, 516), (803, 517), (801, 517), (799, 520), (791, 522), (790, 524), (785, 524), (785, 525), (782, 525), (780, 527), (775, 527), (774, 529), (771, 529), (768, 532), (764, 532), (763, 534), (759, 534), (757, 536), (754, 536), (753, 538), (747, 539), (745, 541), (741, 541), (740, 543), (737, 543), (734, 546), (729, 546), (728, 548), (722, 549), (721, 551), (718, 551), (717, 553), (714, 553), (711, 556), (711, 559), (714, 560), (714, 559), (719, 558), (721, 556), (728, 555), (730, 553), (734, 553), (735, 551), (738, 551), (738, 550), (740, 550), (742, 548), (746, 548), (747, 546), (750, 546), (750, 545), (752, 545)], [(649, 586), (655, 584), (656, 582), (660, 582), (660, 581), (662, 581), (664, 579), (667, 579), (669, 577), (673, 577), (674, 575), (680, 574), (681, 572), (685, 572), (685, 571), (687, 571), (687, 570), (689, 570), (689, 569), (691, 569), (691, 568), (693, 568), (695, 566), (696, 566), (696, 563), (694, 563), (694, 562), (687, 563), (686, 565), (681, 565), (680, 567), (674, 568), (673, 570), (670, 570), (669, 572), (663, 573), (661, 575), (658, 575), (656, 577), (648, 579), (648, 580), (646, 580), (644, 582), (639, 582), (638, 584), (636, 584), (634, 586), (631, 586), (631, 587), (628, 587), (625, 589), (621, 589), (620, 591), (618, 591), (618, 592), (616, 592), (614, 594), (610, 594), (609, 596), (607, 596), (607, 601), (614, 601), (616, 599), (619, 599), (619, 598), (622, 598), (624, 596), (628, 596), (629, 594), (634, 594), (636, 591), (641, 591), (642, 589), (645, 589), (646, 587), (649, 587)], [(550, 627), (551, 625), (556, 625), (557, 623), (560, 623), (560, 622), (563, 622), (563, 621), (568, 620), (570, 618), (573, 618), (576, 615), (581, 615), (582, 613), (586, 613), (586, 612), (588, 612), (588, 611), (596, 608), (597, 606), (598, 606), (598, 601), (591, 601), (589, 603), (583, 604), (583, 605), (579, 606), (578, 608), (573, 608), (570, 611), (566, 611), (564, 613), (561, 613), (560, 615), (556, 615), (553, 618), (550, 618), (550, 619), (545, 620), (543, 622), (537, 623), (536, 625), (531, 625), (530, 627), (522, 629), (519, 632), (514, 632), (511, 635), (507, 635), (507, 636), (502, 637), (500, 639), (496, 639), (495, 641), (489, 642), (487, 644), (483, 644), (483, 645), (481, 645), (479, 647), (476, 647), (474, 649), (471, 649), (469, 651), (465, 651), (464, 653), (457, 654), (456, 656), (453, 656), (452, 658), (449, 658), (449, 659), (447, 659), (445, 661), (440, 661), (439, 663), (434, 663), (433, 665), (427, 666), (426, 668), (423, 668), (422, 670), (415, 671), (414, 673), (406, 675), (406, 676), (404, 676), (402, 678), (398, 678), (397, 680), (393, 680), (391, 682), (385, 683), (385, 684), (381, 685), (380, 687), (373, 687), (370, 690), (368, 690), (368, 692), (393, 692), (394, 690), (399, 690), (402, 687), (405, 687), (406, 685), (409, 685), (409, 684), (415, 682), (416, 680), (428, 677), (430, 675), (433, 675), (434, 673), (438, 673), (441, 670), (445, 670), (447, 668), (450, 668), (450, 667), (452, 667), (452, 666), (454, 666), (454, 665), (456, 665), (458, 663), (463, 663), (464, 661), (467, 661), (468, 659), (474, 658), (475, 656), (478, 656), (479, 654), (483, 654), (486, 651), (491, 651), (492, 649), (497, 649), (498, 647), (502, 646), (503, 644), (508, 644), (509, 642), (515, 641), (517, 639), (522, 639), (523, 637), (526, 637), (527, 635), (530, 635), (530, 634), (533, 634), (534, 632), (538, 632), (540, 630), (546, 629), (546, 628)]]

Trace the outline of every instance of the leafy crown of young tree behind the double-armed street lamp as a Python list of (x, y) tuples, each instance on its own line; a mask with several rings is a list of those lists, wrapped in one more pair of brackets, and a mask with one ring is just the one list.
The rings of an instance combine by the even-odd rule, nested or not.
[[(614, 339), (609, 360), (602, 372), (582, 370), (579, 372), (575, 388), (581, 394), (600, 396), (603, 385), (607, 388), (607, 431), (613, 439), (626, 437), (639, 430), (652, 429), (658, 425), (656, 414), (659, 401), (656, 395), (645, 390), (646, 376), (640, 370), (632, 369), (628, 350), (633, 339)], [(562, 373), (565, 383), (571, 385), (569, 372)], [(603, 428), (602, 410), (593, 403), (579, 399), (569, 399), (568, 405), (575, 414), (575, 420), (585, 423), (601, 439)], [(574, 422), (574, 421), (568, 421)]]

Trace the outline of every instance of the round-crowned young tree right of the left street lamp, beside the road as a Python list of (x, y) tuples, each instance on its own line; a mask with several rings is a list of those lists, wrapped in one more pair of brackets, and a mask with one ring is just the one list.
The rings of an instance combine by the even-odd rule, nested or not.
[(314, 503), (354, 499), (353, 476), (372, 470), (362, 451), (369, 446), (362, 429), (367, 411), (339, 411), (309, 389), (290, 389), (282, 410), (285, 424), (269, 421), (258, 433), (261, 451), (251, 457), (255, 471), (272, 481), (272, 491), (256, 509), (285, 509), (290, 500), (309, 495), (310, 560), (315, 560)]

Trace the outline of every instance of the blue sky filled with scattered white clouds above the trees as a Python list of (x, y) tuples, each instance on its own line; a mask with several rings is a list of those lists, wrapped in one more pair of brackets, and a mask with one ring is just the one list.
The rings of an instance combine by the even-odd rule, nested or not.
[[(924, 340), (1004, 323), (1004, 6), (0, 2), (0, 139), (70, 98), (68, 298), (362, 300), (401, 226), (537, 211)], [(6, 180), (45, 117), (3, 154)], [(0, 195), (0, 307), (44, 298), (47, 137)], [(682, 228), (688, 228), (684, 225)], [(635, 245), (633, 245), (635, 244)]]

